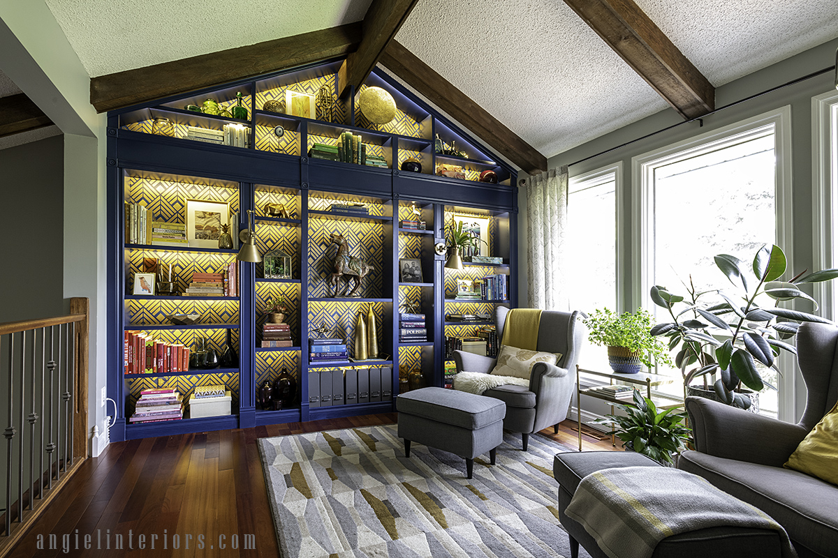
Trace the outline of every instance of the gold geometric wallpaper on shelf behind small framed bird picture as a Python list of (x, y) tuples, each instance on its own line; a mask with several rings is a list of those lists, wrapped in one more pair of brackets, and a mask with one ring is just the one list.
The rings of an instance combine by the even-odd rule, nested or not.
[[(160, 263), (172, 265), (173, 279), (178, 293), (192, 282), (193, 274), (223, 274), (227, 264), (235, 261), (235, 253), (204, 253), (204, 252), (167, 252), (165, 246), (159, 249), (128, 250), (129, 265), (127, 280), (127, 294), (132, 294), (134, 274), (149, 273), (145, 267), (146, 259), (159, 259)], [(241, 291), (241, 289), (240, 289)]]

